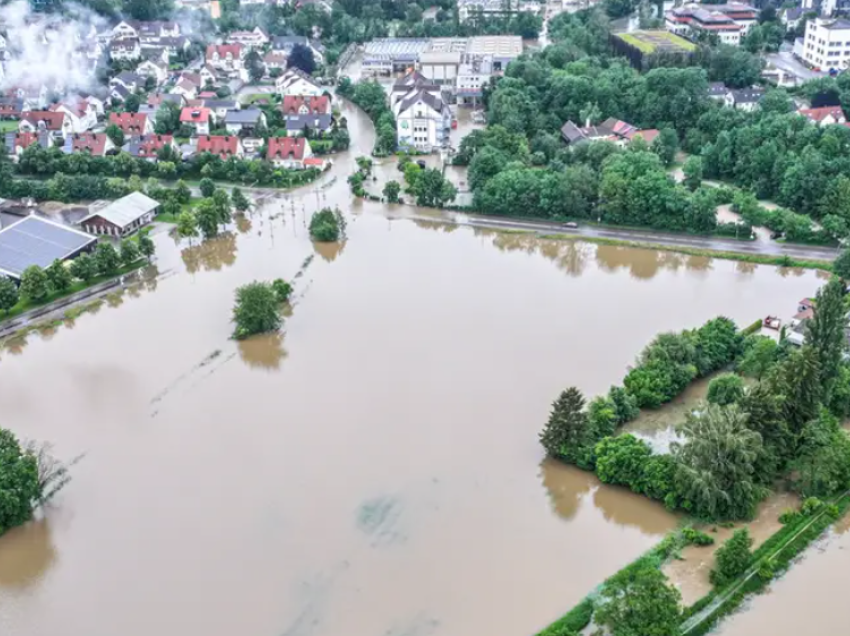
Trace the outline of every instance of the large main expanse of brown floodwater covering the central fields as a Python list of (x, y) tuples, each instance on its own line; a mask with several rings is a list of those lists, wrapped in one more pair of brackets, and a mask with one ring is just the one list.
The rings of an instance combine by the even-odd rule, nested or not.
[[(619, 382), (659, 331), (746, 324), (814, 273), (446, 225), (352, 201), (353, 156), (223, 236), (0, 352), (3, 425), (80, 458), (0, 539), (0, 634), (527, 634), (677, 523), (542, 462), (557, 393)], [(362, 132), (362, 131), (361, 131)], [(338, 204), (348, 240), (315, 246)], [(295, 286), (229, 339), (234, 289)], [(541, 463), (542, 462), (542, 463)]]

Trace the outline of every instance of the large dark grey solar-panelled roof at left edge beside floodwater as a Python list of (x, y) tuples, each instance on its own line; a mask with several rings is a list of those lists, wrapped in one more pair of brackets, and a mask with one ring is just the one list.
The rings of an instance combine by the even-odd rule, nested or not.
[(48, 267), (56, 259), (76, 256), (97, 239), (38, 216), (28, 216), (0, 230), (0, 274), (20, 278), (30, 265)]

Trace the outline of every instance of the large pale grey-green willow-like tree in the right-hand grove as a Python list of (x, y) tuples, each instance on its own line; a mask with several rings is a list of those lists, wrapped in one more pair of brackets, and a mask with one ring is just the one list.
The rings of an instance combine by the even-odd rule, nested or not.
[(676, 489), (697, 517), (748, 518), (763, 497), (755, 480), (762, 439), (746, 423), (737, 405), (708, 404), (677, 429), (685, 441), (671, 446), (678, 461)]

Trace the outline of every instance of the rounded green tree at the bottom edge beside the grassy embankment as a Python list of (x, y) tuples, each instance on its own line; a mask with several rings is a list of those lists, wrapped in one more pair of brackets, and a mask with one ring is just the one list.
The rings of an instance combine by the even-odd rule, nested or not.
[(651, 564), (627, 567), (605, 582), (593, 620), (611, 636), (678, 636), (679, 591)]

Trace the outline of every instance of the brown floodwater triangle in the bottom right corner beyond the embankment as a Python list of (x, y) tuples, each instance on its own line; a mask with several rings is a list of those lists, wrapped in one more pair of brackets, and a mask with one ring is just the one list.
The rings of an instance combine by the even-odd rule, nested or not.
[(845, 517), (815, 543), (766, 594), (747, 603), (747, 611), (726, 619), (722, 636), (832, 636), (847, 633), (847, 572), (850, 571), (850, 521)]

